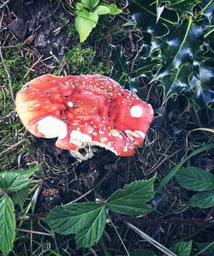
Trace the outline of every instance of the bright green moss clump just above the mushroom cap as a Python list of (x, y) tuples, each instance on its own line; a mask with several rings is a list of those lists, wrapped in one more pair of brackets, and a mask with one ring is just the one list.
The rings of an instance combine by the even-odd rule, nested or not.
[[(110, 74), (110, 63), (98, 60), (96, 51), (92, 47), (74, 45), (64, 57), (62, 65), (68, 68), (68, 74)], [(59, 74), (56, 68), (55, 74)]]

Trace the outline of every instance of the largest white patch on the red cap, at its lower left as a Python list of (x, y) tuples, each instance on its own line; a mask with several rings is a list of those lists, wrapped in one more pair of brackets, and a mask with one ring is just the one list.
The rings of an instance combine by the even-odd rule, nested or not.
[(45, 138), (58, 137), (59, 139), (63, 139), (68, 134), (67, 125), (53, 116), (46, 116), (39, 120), (37, 124), (39, 133), (44, 134)]

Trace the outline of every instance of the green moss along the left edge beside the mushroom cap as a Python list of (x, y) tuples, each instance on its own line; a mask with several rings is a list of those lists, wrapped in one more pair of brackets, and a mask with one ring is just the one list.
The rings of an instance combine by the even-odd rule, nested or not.
[[(15, 95), (24, 84), (24, 75), (27, 72), (24, 67), (30, 67), (29, 59), (26, 56), (22, 57), (21, 47), (17, 46), (10, 51), (3, 52), (3, 60), (9, 71), (12, 91)], [(10, 166), (17, 163), (21, 149), (29, 150), (29, 142), (24, 140), (23, 144), (15, 146), (1, 156), (2, 152), (23, 140), (22, 135), (19, 134), (23, 125), (13, 112), (14, 103), (10, 94), (8, 75), (3, 63), (0, 63), (0, 84), (2, 86), (0, 89), (0, 170), (2, 171), (9, 170)]]

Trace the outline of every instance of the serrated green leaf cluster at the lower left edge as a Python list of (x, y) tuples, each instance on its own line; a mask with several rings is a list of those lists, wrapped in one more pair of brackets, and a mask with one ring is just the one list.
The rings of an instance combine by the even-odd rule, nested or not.
[(30, 177), (41, 166), (28, 170), (12, 170), (0, 173), (0, 251), (3, 256), (13, 248), (15, 241), (15, 205), (21, 209), (27, 198)]

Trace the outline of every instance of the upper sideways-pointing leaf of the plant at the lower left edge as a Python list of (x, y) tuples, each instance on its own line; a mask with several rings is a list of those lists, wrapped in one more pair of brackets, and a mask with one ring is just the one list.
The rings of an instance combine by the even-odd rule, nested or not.
[(11, 170), (0, 173), (0, 188), (9, 192), (15, 192), (27, 187), (29, 177), (40, 169), (40, 165), (28, 170)]

